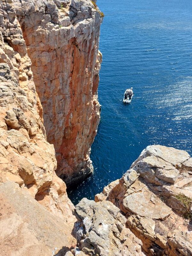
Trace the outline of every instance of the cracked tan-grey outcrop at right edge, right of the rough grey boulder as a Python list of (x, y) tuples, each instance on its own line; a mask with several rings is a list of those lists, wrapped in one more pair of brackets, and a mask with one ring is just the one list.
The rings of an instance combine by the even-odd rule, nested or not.
[(189, 256), (191, 171), (187, 152), (149, 146), (120, 180), (95, 196), (95, 201), (110, 201), (123, 212), (147, 255)]

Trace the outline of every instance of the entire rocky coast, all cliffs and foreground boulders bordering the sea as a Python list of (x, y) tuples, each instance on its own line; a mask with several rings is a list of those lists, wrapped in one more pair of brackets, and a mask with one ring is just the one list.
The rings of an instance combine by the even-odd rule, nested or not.
[(92, 172), (101, 16), (89, 0), (0, 2), (2, 256), (192, 255), (187, 152), (147, 147), (76, 208), (55, 173)]

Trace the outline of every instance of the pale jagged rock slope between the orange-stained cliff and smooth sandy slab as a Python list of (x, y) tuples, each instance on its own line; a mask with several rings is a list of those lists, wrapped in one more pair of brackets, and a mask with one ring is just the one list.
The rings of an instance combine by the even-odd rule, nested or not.
[(0, 90), (0, 182), (16, 182), (54, 215), (74, 222), (66, 185), (55, 174), (54, 147), (46, 140), (31, 60), (10, 0), (0, 4)]

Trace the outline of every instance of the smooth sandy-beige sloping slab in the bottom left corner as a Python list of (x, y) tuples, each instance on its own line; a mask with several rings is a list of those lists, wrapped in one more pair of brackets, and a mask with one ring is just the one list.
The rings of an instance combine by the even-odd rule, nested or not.
[(53, 216), (15, 182), (0, 185), (2, 256), (63, 256), (76, 246), (67, 222)]

